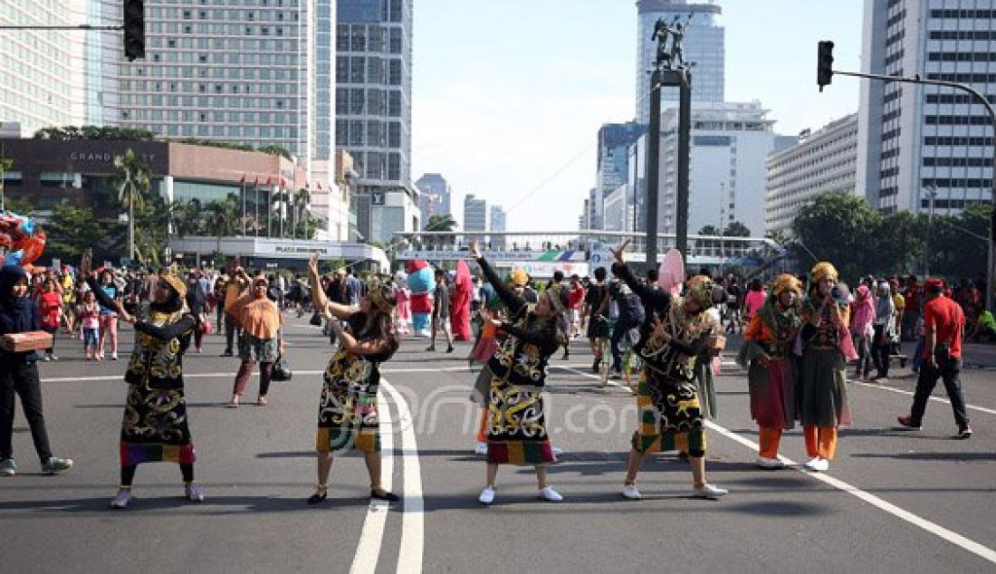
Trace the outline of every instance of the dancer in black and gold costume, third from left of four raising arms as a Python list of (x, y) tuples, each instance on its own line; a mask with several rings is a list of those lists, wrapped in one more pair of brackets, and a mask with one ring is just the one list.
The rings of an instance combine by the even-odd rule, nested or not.
[(560, 320), (567, 311), (567, 292), (553, 286), (535, 305), (529, 304), (502, 283), (476, 242), (471, 243), (470, 254), (508, 308), (508, 321), (500, 324), (507, 337), (487, 366), (492, 376), (487, 484), (477, 500), (494, 502), (499, 464), (530, 464), (536, 467), (540, 497), (558, 502), (564, 497), (547, 483), (546, 465), (555, 462), (556, 455), (547, 434), (543, 388), (550, 356), (567, 340)]

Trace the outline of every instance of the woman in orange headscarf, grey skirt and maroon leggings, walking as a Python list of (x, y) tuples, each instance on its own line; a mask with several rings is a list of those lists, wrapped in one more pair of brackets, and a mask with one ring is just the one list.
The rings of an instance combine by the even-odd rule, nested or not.
[(281, 327), (284, 319), (278, 304), (267, 296), (267, 280), (256, 277), (249, 293), (232, 307), (239, 326), (239, 358), (242, 365), (235, 375), (232, 399), (228, 407), (237, 408), (252, 377), (253, 365), (259, 363), (259, 397), (256, 405), (266, 407), (273, 365), (284, 353)]

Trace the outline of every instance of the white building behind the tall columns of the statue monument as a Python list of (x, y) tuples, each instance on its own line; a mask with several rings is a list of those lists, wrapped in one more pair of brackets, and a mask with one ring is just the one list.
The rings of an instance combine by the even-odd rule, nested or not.
[[(688, 232), (706, 225), (747, 226), (752, 236), (765, 228), (765, 161), (772, 151), (796, 143), (778, 136), (774, 120), (759, 102), (692, 105)], [(678, 113), (661, 118), (659, 229), (676, 231)]]

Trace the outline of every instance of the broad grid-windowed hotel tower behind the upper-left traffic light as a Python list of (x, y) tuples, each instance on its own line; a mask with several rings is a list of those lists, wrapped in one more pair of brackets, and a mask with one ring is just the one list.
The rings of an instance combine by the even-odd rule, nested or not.
[(332, 0), (220, 7), (145, 0), (145, 59), (121, 64), (119, 124), (167, 138), (277, 144), (328, 160)]

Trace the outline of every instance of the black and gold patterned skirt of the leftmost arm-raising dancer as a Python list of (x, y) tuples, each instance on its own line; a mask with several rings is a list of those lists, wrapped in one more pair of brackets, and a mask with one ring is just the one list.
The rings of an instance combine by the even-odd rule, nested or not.
[(193, 464), (196, 454), (187, 424), (183, 389), (128, 385), (121, 437), (121, 464)]

